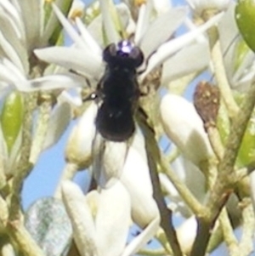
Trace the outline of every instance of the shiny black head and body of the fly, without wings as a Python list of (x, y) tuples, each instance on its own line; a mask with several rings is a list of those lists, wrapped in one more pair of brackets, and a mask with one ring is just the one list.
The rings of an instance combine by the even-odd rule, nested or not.
[(125, 141), (134, 132), (133, 114), (139, 99), (137, 68), (144, 55), (133, 43), (121, 41), (107, 46), (103, 59), (106, 67), (96, 90), (101, 105), (95, 124), (105, 139)]

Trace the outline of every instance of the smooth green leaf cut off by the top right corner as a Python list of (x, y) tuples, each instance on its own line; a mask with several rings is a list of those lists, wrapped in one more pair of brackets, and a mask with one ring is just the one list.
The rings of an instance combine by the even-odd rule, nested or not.
[(235, 7), (235, 21), (247, 45), (255, 51), (255, 2), (239, 0)]

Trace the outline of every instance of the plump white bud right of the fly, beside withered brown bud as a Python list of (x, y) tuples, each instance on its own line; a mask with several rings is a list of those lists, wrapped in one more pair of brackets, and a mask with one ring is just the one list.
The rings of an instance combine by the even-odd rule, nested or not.
[(161, 122), (169, 139), (195, 165), (212, 156), (212, 147), (194, 105), (183, 97), (167, 94), (161, 100)]

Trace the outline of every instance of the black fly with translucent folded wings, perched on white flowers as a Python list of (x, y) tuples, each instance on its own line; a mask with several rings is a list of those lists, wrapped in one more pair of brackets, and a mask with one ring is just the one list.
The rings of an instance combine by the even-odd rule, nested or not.
[(134, 114), (140, 96), (138, 67), (144, 54), (130, 41), (111, 43), (103, 51), (105, 73), (87, 100), (95, 100), (96, 134), (93, 140), (93, 173), (97, 185), (109, 187), (122, 174), (128, 140), (135, 131)]

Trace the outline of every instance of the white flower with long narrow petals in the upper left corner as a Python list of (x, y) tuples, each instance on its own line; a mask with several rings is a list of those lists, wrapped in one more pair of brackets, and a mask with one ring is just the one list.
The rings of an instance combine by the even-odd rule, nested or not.
[[(65, 1), (65, 4), (68, 4), (68, 1)], [(59, 7), (64, 4), (63, 1), (57, 3)], [(31, 79), (38, 77), (38, 74), (35, 76), (31, 71), (39, 64), (36, 59), (32, 61), (33, 50), (48, 45), (49, 41), (53, 40), (53, 32), (58, 26), (54, 14), (49, 14), (47, 20), (44, 20), (44, 17), (43, 1), (0, 2), (1, 90), (16, 88), (30, 92), (42, 88), (54, 89), (59, 81), (62, 88), (74, 87), (79, 81), (81, 82), (75, 76), (60, 74)]]

